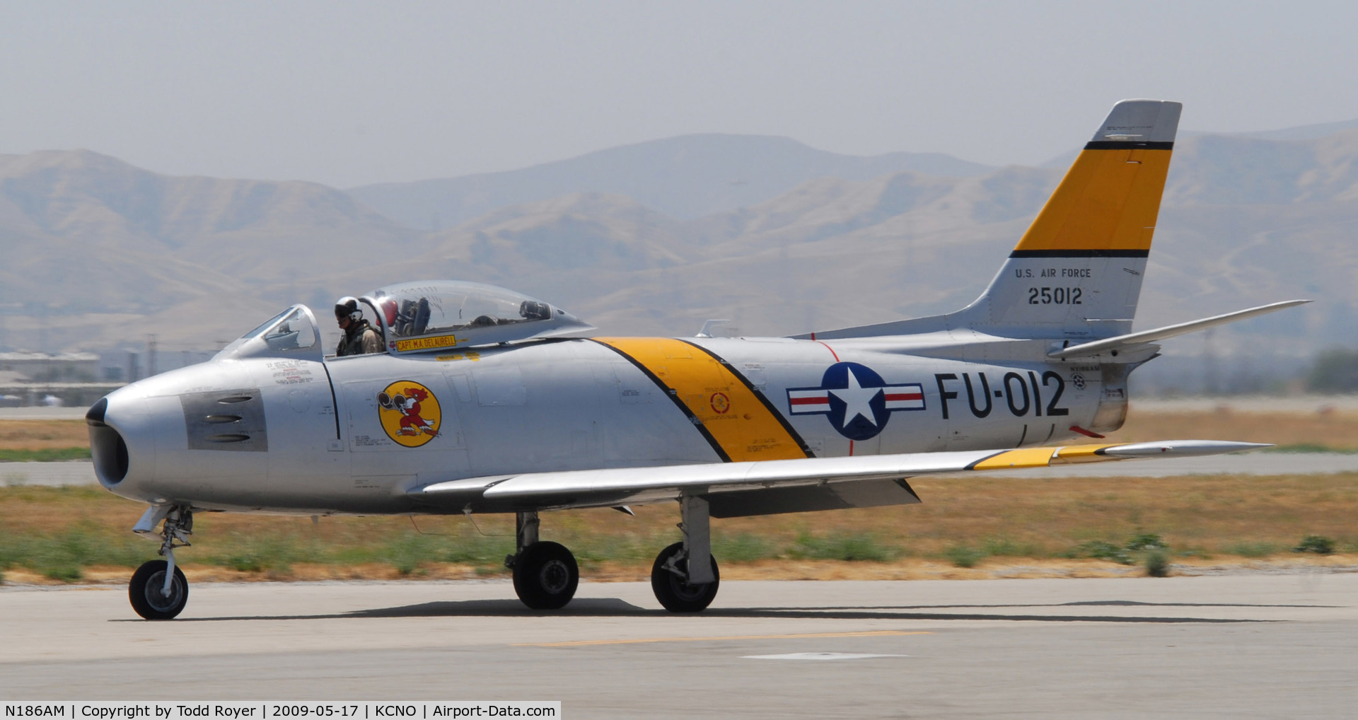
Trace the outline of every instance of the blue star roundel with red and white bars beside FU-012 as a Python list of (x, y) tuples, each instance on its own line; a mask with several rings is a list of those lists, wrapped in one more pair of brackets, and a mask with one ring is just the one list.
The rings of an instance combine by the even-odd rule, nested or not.
[(868, 365), (835, 363), (826, 368), (819, 387), (788, 389), (792, 414), (824, 414), (839, 435), (850, 440), (876, 437), (898, 410), (923, 410), (919, 383), (887, 384)]

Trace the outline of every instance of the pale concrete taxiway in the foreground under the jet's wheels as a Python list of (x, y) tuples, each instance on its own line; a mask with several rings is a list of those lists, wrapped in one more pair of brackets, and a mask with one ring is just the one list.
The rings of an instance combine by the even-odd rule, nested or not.
[(1358, 575), (0, 588), (10, 700), (561, 700), (568, 717), (1353, 717)]

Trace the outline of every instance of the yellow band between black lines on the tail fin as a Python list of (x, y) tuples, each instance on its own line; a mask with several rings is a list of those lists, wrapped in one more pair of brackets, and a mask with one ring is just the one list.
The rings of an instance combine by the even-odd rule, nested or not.
[(1169, 149), (1084, 149), (1014, 250), (1150, 250)]

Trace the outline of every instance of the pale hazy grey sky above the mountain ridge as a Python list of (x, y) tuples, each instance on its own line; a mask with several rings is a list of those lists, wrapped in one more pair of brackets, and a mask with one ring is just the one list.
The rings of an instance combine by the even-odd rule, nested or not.
[(695, 132), (1035, 164), (1120, 98), (1358, 117), (1358, 3), (0, 0), (0, 152), (369, 182)]

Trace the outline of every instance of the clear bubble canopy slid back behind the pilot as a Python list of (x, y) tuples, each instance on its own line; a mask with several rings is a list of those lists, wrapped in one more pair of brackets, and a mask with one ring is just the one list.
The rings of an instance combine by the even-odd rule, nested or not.
[(520, 292), (459, 280), (387, 285), (361, 300), (376, 311), (387, 348), (397, 355), (595, 329), (565, 310)]

